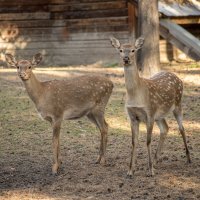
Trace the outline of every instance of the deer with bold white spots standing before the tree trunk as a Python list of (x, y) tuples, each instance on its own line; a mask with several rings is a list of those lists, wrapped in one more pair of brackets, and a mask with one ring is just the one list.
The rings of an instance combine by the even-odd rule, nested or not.
[[(114, 37), (110, 37), (112, 46), (119, 52), (120, 61), (124, 68), (126, 102), (125, 107), (130, 119), (132, 132), (132, 150), (128, 177), (133, 177), (136, 168), (136, 148), (138, 145), (139, 124), (144, 122), (147, 130), (147, 151), (149, 176), (154, 176), (154, 164), (157, 164), (169, 127), (166, 115), (173, 112), (183, 138), (187, 162), (191, 163), (190, 152), (187, 147), (186, 135), (182, 123), (182, 81), (171, 72), (158, 72), (150, 78), (140, 76), (136, 53), (142, 48), (144, 38), (137, 38), (134, 43), (121, 44)], [(154, 124), (160, 129), (160, 139), (152, 160), (151, 137)]]

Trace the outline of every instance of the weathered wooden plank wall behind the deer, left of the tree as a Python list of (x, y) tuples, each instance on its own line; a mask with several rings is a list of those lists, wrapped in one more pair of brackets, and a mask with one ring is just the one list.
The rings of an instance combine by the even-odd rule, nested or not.
[(0, 60), (42, 52), (49, 66), (116, 63), (109, 37), (128, 32), (125, 0), (0, 0)]

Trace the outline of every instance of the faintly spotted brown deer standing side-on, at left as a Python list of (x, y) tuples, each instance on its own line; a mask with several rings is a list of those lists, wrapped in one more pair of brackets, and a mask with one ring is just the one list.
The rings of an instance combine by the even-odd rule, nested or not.
[(30, 99), (44, 120), (50, 122), (53, 129), (53, 165), (52, 174), (56, 175), (61, 164), (60, 129), (64, 119), (75, 120), (86, 116), (101, 133), (99, 156), (96, 163), (105, 165), (108, 124), (104, 113), (113, 90), (113, 83), (102, 75), (80, 75), (64, 80), (41, 82), (32, 69), (42, 60), (37, 53), (32, 60), (19, 60), (11, 54), (5, 54), (8, 65), (17, 68)]

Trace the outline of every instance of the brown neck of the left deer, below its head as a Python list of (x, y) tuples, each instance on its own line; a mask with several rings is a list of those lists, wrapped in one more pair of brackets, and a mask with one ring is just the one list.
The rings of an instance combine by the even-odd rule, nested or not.
[(26, 90), (32, 99), (32, 101), (37, 104), (39, 101), (39, 98), (41, 96), (42, 92), (42, 83), (38, 81), (38, 79), (35, 77), (33, 72), (31, 72), (31, 76), (28, 80), (23, 81)]

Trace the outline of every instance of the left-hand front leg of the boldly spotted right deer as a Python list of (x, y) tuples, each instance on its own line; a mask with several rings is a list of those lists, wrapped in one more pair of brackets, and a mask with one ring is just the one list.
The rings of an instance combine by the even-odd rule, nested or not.
[(137, 144), (138, 144), (138, 136), (139, 136), (139, 121), (131, 120), (131, 132), (132, 132), (132, 150), (131, 150), (131, 160), (129, 165), (129, 170), (127, 172), (127, 176), (132, 177), (135, 172), (135, 165), (137, 160)]

